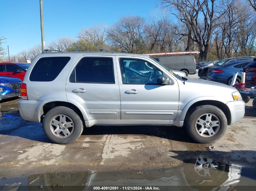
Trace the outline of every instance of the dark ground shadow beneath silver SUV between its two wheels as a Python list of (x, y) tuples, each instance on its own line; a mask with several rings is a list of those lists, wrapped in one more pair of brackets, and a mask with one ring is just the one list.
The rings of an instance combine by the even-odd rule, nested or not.
[(185, 128), (176, 126), (93, 126), (85, 128), (82, 135), (148, 135), (170, 140), (195, 143), (187, 134)]

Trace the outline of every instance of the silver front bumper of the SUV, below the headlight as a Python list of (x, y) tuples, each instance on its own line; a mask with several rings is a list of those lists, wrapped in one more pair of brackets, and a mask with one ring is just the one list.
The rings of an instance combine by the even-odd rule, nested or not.
[(226, 104), (231, 113), (231, 124), (238, 122), (244, 118), (245, 103), (244, 101), (231, 101)]

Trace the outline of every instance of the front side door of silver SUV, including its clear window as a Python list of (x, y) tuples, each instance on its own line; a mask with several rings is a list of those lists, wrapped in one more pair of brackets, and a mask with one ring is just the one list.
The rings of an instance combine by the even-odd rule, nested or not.
[(166, 120), (166, 125), (175, 120), (179, 105), (177, 81), (158, 84), (165, 74), (149, 59), (116, 56), (116, 62), (121, 71), (118, 72), (121, 119)]

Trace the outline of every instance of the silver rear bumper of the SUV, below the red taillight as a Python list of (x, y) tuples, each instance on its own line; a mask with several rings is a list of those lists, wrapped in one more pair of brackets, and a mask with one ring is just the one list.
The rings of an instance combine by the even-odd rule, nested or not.
[(42, 101), (35, 100), (19, 100), (18, 106), (20, 115), (27, 121), (40, 122), (38, 118), (37, 108)]

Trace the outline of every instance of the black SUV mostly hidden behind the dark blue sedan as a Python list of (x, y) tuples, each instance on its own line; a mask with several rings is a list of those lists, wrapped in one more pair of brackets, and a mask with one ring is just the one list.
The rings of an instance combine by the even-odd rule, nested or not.
[(252, 60), (253, 58), (255, 58), (255, 56), (242, 56), (242, 57), (234, 57), (234, 58), (223, 59), (223, 60), (220, 60), (219, 62), (215, 63), (214, 65), (199, 68), (198, 69), (198, 76), (202, 79), (207, 79), (208, 70), (211, 67), (216, 67), (216, 66), (220, 66), (222, 64), (228, 64), (228, 63), (232, 63), (232, 62)]

